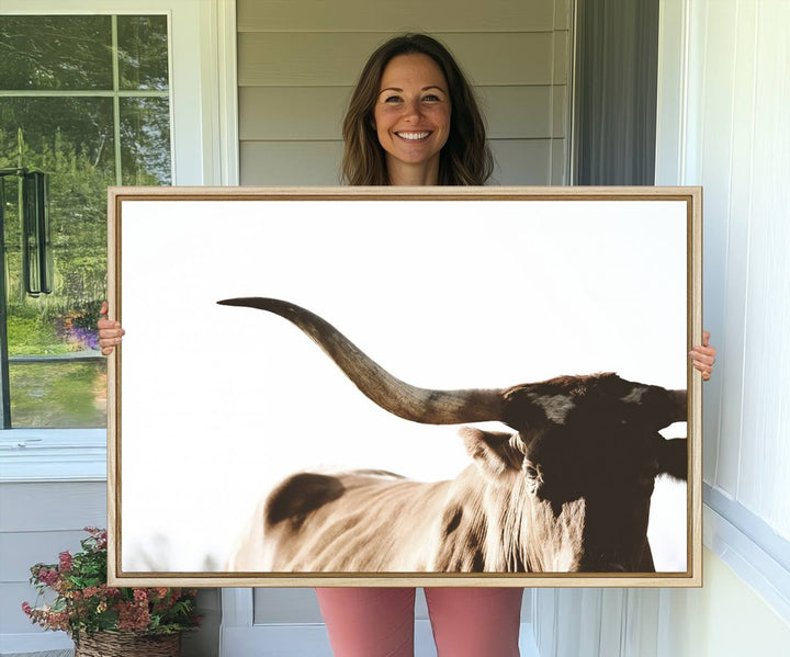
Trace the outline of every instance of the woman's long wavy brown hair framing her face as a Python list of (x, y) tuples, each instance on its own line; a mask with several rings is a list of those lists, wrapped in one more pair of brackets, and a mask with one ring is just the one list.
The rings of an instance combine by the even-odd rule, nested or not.
[(413, 54), (433, 59), (449, 87), (452, 103), (450, 135), (441, 149), (439, 184), (485, 184), (494, 169), (494, 161), (485, 140), (485, 122), (474, 92), (450, 52), (426, 34), (404, 34), (391, 38), (368, 59), (343, 120), (343, 181), (351, 185), (390, 184), (384, 149), (373, 127), (373, 107), (386, 65), (393, 57)]

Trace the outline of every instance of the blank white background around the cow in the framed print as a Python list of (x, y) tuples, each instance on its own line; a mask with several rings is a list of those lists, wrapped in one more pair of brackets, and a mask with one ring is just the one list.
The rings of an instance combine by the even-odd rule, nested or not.
[[(222, 298), (304, 306), (424, 387), (686, 387), (685, 203), (124, 201), (122, 239), (124, 570), (222, 568), (295, 471), (470, 463), (456, 427), (388, 415), (293, 325)], [(659, 483), (658, 569), (686, 569), (685, 512)]]

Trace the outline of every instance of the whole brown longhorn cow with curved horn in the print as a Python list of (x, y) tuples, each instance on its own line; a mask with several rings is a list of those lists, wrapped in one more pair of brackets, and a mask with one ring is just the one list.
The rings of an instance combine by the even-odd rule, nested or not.
[(504, 389), (432, 390), (386, 372), (330, 324), (294, 304), (218, 302), (269, 310), (309, 336), (375, 404), (407, 420), (498, 420), (463, 428), (473, 464), (455, 479), (375, 471), (303, 472), (264, 500), (228, 568), (248, 571), (650, 573), (657, 475), (687, 476), (687, 440), (658, 430), (686, 420), (686, 390), (612, 373)]

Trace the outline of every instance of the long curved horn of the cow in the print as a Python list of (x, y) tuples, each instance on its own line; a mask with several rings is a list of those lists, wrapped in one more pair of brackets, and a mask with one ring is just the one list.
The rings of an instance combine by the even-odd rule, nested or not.
[(501, 390), (431, 390), (404, 383), (365, 355), (329, 322), (295, 304), (275, 298), (242, 297), (217, 302), (280, 315), (301, 328), (375, 404), (424, 424), (459, 424), (501, 419)]

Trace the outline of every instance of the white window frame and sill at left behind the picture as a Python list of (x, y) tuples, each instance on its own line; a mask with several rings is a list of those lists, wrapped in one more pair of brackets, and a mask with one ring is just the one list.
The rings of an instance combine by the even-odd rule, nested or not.
[[(167, 15), (172, 182), (238, 184), (234, 0), (27, 0), (0, 14)], [(0, 430), (0, 483), (105, 479), (105, 429)]]

